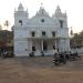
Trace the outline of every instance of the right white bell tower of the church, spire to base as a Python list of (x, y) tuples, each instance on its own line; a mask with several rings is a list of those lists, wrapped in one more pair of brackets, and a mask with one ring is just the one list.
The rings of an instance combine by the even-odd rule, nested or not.
[(59, 28), (58, 31), (58, 41), (56, 45), (60, 52), (69, 52), (70, 51), (70, 37), (69, 37), (69, 29), (68, 29), (68, 17), (66, 13), (63, 13), (60, 7), (56, 7), (55, 13), (53, 18), (58, 20)]

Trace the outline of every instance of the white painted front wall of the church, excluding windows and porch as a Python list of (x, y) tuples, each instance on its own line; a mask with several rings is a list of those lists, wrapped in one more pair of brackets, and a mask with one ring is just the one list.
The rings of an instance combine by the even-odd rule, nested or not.
[[(30, 19), (28, 18), (28, 12), (21, 7), (20, 4), (20, 11), (14, 11), (14, 54), (17, 56), (29, 55), (31, 52), (32, 31), (35, 32), (35, 39), (42, 39), (42, 31), (45, 31), (46, 39), (50, 39), (50, 41), (52, 40), (52, 31), (55, 31), (60, 51), (70, 50), (66, 14), (59, 12), (59, 15), (50, 17), (44, 9), (40, 8), (39, 13)], [(44, 22), (41, 22), (42, 19), (44, 19)], [(19, 24), (19, 20), (22, 20), (22, 25)], [(63, 28), (60, 28), (59, 20), (63, 20)], [(51, 44), (49, 46), (51, 46)], [(46, 54), (50, 54), (50, 52), (52, 53), (52, 49), (48, 50)], [(37, 50), (35, 54), (40, 55), (40, 50)]]

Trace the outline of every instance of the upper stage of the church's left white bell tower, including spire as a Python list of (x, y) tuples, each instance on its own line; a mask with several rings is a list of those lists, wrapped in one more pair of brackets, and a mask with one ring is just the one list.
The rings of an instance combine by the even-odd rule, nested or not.
[(28, 18), (28, 10), (24, 11), (22, 3), (20, 3), (18, 10), (14, 10), (14, 25), (25, 25)]

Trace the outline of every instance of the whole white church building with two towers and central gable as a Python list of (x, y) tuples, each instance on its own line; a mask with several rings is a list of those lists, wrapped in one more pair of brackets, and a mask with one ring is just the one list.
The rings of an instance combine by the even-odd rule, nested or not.
[(29, 18), (28, 10), (20, 3), (14, 11), (13, 35), (15, 56), (29, 56), (31, 52), (41, 55), (41, 51), (45, 55), (53, 54), (53, 48), (70, 51), (68, 15), (59, 6), (52, 17), (41, 6), (35, 15)]

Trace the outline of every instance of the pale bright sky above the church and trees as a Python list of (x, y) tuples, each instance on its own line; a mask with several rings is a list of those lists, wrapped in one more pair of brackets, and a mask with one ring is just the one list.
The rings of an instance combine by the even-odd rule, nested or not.
[[(73, 32), (83, 30), (83, 0), (1, 0), (0, 1), (0, 24), (3, 27), (6, 20), (9, 20), (10, 27), (14, 23), (14, 9), (18, 9), (19, 3), (22, 3), (24, 9), (28, 9), (29, 17), (33, 17), (41, 7), (41, 2), (45, 11), (52, 15), (55, 12), (56, 6), (60, 6), (62, 12), (66, 11), (68, 28)], [(3, 27), (3, 29), (7, 29)]]

